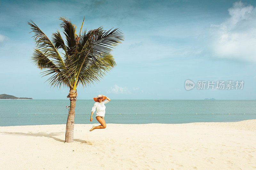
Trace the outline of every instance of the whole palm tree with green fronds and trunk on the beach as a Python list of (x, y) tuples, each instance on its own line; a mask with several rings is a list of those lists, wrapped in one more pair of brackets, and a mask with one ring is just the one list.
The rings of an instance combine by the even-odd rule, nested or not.
[[(112, 48), (124, 40), (123, 33), (116, 29), (103, 30), (102, 26), (81, 34), (84, 20), (79, 34), (76, 26), (65, 17), (59, 18), (60, 27), (66, 36), (66, 43), (60, 32), (52, 33), (52, 41), (30, 20), (28, 25), (35, 35), (36, 48), (30, 60), (39, 69), (45, 70), (42, 77), (51, 75), (46, 81), (51, 87), (69, 87), (67, 98), (70, 100), (70, 110), (66, 125), (65, 142), (74, 142), (74, 117), (77, 85), (83, 87), (99, 82), (116, 62), (110, 54)], [(45, 82), (46, 82), (45, 81)]]

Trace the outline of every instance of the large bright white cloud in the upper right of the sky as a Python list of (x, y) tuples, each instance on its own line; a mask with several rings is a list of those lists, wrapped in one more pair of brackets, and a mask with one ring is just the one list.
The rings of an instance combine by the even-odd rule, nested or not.
[(256, 8), (236, 2), (230, 17), (210, 28), (210, 49), (214, 57), (256, 62)]

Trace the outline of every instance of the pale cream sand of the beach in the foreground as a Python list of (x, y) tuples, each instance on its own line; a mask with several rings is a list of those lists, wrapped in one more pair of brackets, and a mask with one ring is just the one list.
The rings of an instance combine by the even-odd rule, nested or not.
[(256, 120), (0, 127), (0, 169), (253, 169)]

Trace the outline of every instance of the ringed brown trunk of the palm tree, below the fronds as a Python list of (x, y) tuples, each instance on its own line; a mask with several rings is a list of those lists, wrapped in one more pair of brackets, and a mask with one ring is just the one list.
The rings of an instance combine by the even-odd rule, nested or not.
[(68, 121), (66, 125), (65, 142), (74, 142), (74, 119), (76, 107), (76, 90), (70, 90), (68, 96), (70, 98), (70, 110), (68, 113)]

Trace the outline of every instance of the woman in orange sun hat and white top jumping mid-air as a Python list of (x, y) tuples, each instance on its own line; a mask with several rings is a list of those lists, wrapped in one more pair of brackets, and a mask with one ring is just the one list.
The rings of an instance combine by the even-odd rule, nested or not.
[[(105, 99), (107, 99), (107, 100), (105, 100)], [(96, 127), (92, 126), (92, 129), (90, 129), (90, 131), (92, 131), (94, 129), (105, 129), (106, 122), (104, 120), (104, 116), (105, 116), (106, 106), (104, 104), (108, 103), (110, 101), (110, 99), (107, 96), (98, 95), (98, 97), (94, 97), (93, 100), (96, 102), (94, 103), (94, 106), (92, 107), (92, 115), (95, 112), (95, 109), (97, 108), (96, 119), (101, 125), (96, 126)], [(91, 122), (92, 122), (92, 115), (91, 115), (91, 120), (90, 120)]]

